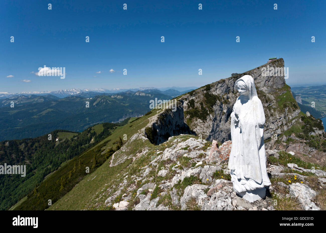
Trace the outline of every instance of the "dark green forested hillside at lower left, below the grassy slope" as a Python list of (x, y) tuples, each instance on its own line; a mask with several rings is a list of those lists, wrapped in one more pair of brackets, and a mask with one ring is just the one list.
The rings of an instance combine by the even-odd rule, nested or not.
[(9, 209), (63, 163), (93, 147), (120, 124), (103, 123), (82, 133), (55, 130), (36, 138), (0, 142), (0, 164), (26, 165), (26, 176), (0, 176), (0, 209)]

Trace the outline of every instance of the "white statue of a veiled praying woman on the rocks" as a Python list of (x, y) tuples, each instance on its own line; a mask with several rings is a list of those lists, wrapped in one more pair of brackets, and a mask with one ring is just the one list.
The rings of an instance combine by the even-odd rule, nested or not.
[(238, 79), (234, 88), (240, 96), (231, 113), (231, 181), (237, 194), (254, 202), (265, 198), (265, 187), (271, 185), (263, 137), (265, 114), (250, 75)]

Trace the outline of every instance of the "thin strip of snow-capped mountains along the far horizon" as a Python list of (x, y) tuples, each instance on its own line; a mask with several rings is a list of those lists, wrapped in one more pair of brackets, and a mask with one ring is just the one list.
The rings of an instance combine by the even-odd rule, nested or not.
[[(115, 94), (120, 92), (130, 91), (144, 91), (144, 90), (156, 90), (159, 93), (170, 95), (171, 97), (179, 96), (183, 93), (189, 92), (191, 90), (197, 89), (196, 86), (189, 86), (189, 87), (179, 87), (179, 86), (172, 86), (172, 87), (164, 87), (164, 88), (156, 88), (156, 87), (140, 87), (140, 88), (132, 88), (132, 89), (123, 89), (123, 88), (114, 88), (114, 89), (105, 89), (105, 88), (96, 88), (96, 89), (65, 89), (59, 91), (34, 91), (34, 92), (20, 92), (20, 93), (9, 93), (9, 92), (0, 92), (0, 99), (6, 98), (16, 98), (17, 96), (21, 95), (37, 95), (37, 96), (46, 96), (46, 95), (53, 95), (58, 98), (65, 98), (67, 96), (78, 95), (81, 93), (108, 93), (108, 94)], [(170, 93), (170, 94), (167, 94)]]

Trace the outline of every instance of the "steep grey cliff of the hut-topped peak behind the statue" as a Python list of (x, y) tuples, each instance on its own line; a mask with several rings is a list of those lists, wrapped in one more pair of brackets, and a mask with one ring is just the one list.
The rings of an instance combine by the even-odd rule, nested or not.
[[(306, 162), (324, 164), (326, 134), (322, 121), (301, 112), (284, 76), (276, 76), (276, 70), (283, 67), (284, 60), (280, 58), (181, 95), (176, 98), (177, 111), (166, 109), (159, 113), (146, 128), (145, 136), (154, 144), (180, 133), (197, 134), (202, 139), (221, 143), (230, 140), (230, 114), (239, 96), (234, 84), (248, 74), (255, 80), (264, 107), (265, 148), (295, 151)], [(263, 68), (274, 73), (264, 76)]]

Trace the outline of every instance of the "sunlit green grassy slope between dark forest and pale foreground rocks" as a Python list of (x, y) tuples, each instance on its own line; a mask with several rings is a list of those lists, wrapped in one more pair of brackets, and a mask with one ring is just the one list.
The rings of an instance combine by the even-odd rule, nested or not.
[[(198, 139), (198, 137), (194, 135), (175, 136), (175, 138), (181, 139), (182, 141), (185, 141), (190, 137)], [(211, 142), (208, 142), (208, 144), (211, 145)], [(125, 153), (136, 153), (140, 148), (144, 147), (148, 149), (148, 152), (137, 158), (134, 162), (132, 162), (132, 159), (128, 159), (124, 163), (110, 167), (110, 160), (107, 160), (93, 174), (86, 176), (68, 194), (48, 208), (48, 210), (112, 210), (112, 206), (106, 206), (105, 200), (118, 190), (119, 185), (122, 185), (124, 180), (127, 180), (127, 183), (123, 183), (123, 186), (125, 187), (136, 184), (135, 190), (131, 193), (136, 193), (137, 189), (145, 183), (148, 183), (149, 180), (142, 183), (142, 178), (136, 181), (135, 178), (133, 178), (133, 175), (141, 177), (140, 173), (141, 171), (143, 172), (143, 166), (149, 164), (153, 160), (157, 155), (157, 151), (164, 151), (165, 148), (171, 147), (171, 142), (153, 145), (149, 143), (148, 140), (142, 143), (135, 141), (132, 147), (129, 147), (128, 151)], [(160, 166), (164, 166), (164, 164), (162, 163)], [(125, 177), (126, 174), (128, 174), (128, 178)], [(169, 172), (169, 174), (173, 177), (175, 172)], [(163, 178), (157, 176), (155, 169), (152, 169), (149, 177), (154, 177), (151, 182), (157, 184), (159, 184), (163, 179), (167, 179), (167, 177)], [(87, 190), (87, 192), (85, 192), (85, 190)], [(107, 195), (108, 192), (110, 195)], [(122, 194), (125, 192), (127, 194), (130, 193), (127, 192), (126, 189), (123, 189), (121, 194), (118, 195), (113, 202), (116, 203), (123, 200)], [(159, 190), (157, 190), (153, 195), (160, 195)], [(131, 203), (130, 208), (136, 201), (137, 198), (133, 196), (132, 200), (129, 201)]]

